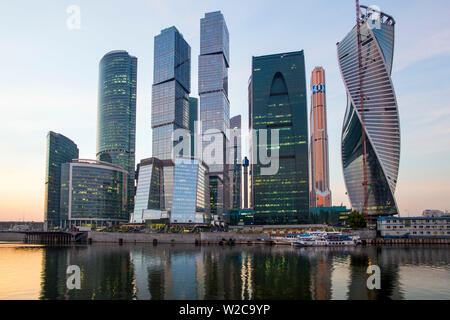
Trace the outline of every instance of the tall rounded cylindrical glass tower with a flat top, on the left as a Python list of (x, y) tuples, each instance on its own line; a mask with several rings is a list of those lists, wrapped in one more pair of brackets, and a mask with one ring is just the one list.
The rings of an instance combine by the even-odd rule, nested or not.
[(127, 212), (133, 210), (137, 58), (123, 50), (100, 60), (97, 159), (128, 172)]

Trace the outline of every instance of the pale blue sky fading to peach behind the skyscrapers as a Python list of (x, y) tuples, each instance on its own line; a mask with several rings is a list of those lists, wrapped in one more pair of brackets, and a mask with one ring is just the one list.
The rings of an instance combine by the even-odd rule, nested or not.
[[(395, 196), (401, 215), (450, 209), (450, 23), (447, 0), (371, 0), (396, 20), (392, 79), (401, 127)], [(80, 8), (80, 29), (67, 8)], [(349, 205), (340, 138), (346, 94), (336, 42), (355, 23), (353, 0), (41, 0), (0, 3), (0, 220), (43, 220), (46, 134), (96, 152), (98, 63), (110, 50), (138, 58), (136, 163), (151, 156), (153, 38), (175, 25), (191, 46), (197, 96), (200, 18), (220, 10), (230, 32), (231, 116), (247, 129), (251, 57), (304, 50), (306, 78), (326, 71), (333, 204)], [(308, 97), (308, 114), (310, 101)]]

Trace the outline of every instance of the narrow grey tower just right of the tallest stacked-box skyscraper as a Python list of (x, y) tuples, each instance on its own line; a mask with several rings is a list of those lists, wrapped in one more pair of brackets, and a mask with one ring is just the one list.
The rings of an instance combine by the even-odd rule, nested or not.
[(240, 209), (242, 205), (242, 164), (241, 164), (241, 116), (230, 119), (230, 137), (228, 148), (228, 176), (230, 178), (231, 208)]

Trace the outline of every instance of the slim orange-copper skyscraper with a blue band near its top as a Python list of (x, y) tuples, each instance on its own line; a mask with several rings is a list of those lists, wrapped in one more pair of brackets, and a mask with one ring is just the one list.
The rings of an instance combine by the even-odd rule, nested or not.
[(311, 74), (311, 207), (331, 207), (325, 70)]

